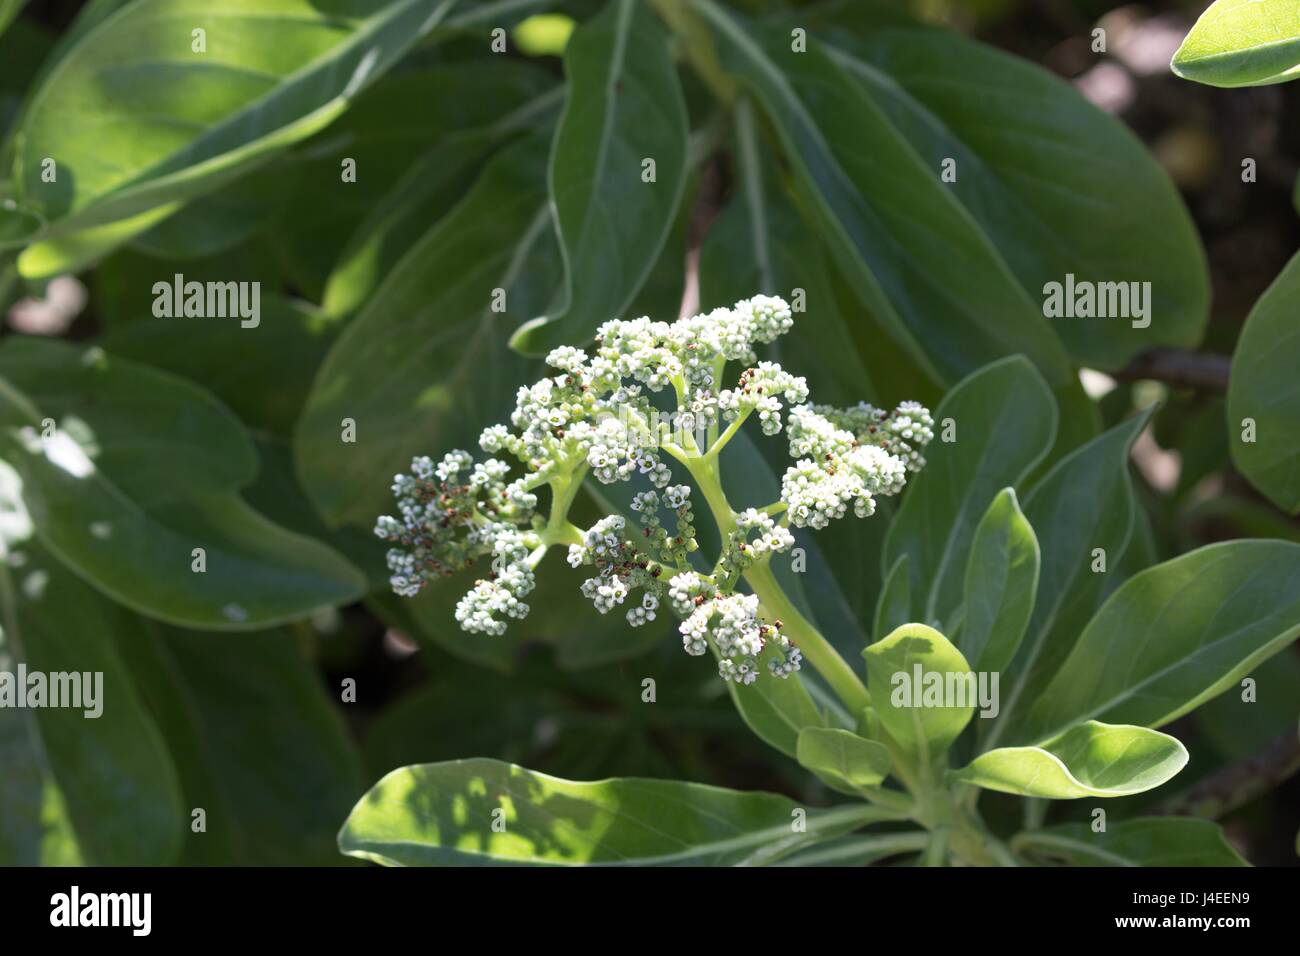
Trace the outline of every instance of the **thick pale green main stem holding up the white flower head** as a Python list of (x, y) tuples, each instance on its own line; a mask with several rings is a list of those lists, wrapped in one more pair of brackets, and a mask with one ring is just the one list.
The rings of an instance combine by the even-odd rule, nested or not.
[[(718, 475), (716, 459), (689, 458), (685, 462), (692, 477), (699, 486), (708, 502), (708, 509), (718, 523), (718, 531), (727, 540), (736, 531), (736, 512), (727, 501), (723, 492), (722, 480)], [(850, 714), (858, 714), (863, 708), (871, 705), (871, 695), (867, 693), (866, 684), (853, 671), (853, 669), (840, 657), (831, 643), (822, 636), (822, 632), (790, 602), (781, 585), (777, 583), (772, 568), (766, 561), (751, 564), (745, 570), (745, 580), (754, 589), (758, 600), (770, 614), (776, 615), (784, 632), (794, 641), (796, 646), (809, 659), (818, 674), (826, 678), (831, 689), (838, 695), (840, 700), (849, 709)]]

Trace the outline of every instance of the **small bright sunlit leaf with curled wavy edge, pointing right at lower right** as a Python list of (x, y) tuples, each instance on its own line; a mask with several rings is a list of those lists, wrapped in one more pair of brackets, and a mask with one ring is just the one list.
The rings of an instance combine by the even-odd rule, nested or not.
[(988, 750), (953, 782), (1020, 796), (1072, 800), (1154, 790), (1187, 766), (1187, 748), (1145, 727), (1087, 721), (1039, 747)]

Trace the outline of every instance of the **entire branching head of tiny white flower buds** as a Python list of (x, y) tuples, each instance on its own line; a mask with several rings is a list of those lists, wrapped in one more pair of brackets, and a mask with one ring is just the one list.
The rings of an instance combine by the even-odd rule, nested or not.
[[(491, 572), (460, 600), (456, 619), (467, 631), (500, 633), (507, 619), (528, 613), (523, 598), (547, 548), (564, 542), (571, 566), (593, 570), (581, 591), (599, 613), (620, 609), (637, 627), (671, 607), (682, 619), (686, 652), (711, 646), (727, 680), (751, 683), (764, 656), (777, 676), (797, 671), (801, 653), (781, 622), (764, 620), (758, 597), (738, 591), (746, 570), (793, 548), (790, 527), (826, 527), (850, 506), (866, 516), (876, 497), (897, 494), (907, 472), (924, 464), (933, 420), (913, 402), (892, 412), (810, 405), (805, 378), (758, 362), (755, 352), (792, 324), (784, 300), (758, 295), (675, 323), (608, 321), (590, 350), (551, 351), (546, 362), (554, 373), (520, 388), (510, 424), (480, 436), (488, 454), (515, 458), (521, 477), (507, 480), (511, 468), (497, 458), (474, 464), (468, 453), (454, 451), (437, 466), (417, 458), (410, 475), (395, 479), (399, 514), (376, 527), (394, 544), (394, 591), (417, 594), (490, 555)], [(728, 363), (742, 365), (733, 386), (724, 386)], [(666, 390), (676, 399), (667, 415), (659, 399)], [(796, 462), (783, 476), (780, 501), (718, 515), (722, 554), (705, 572), (690, 486), (672, 484), (664, 455), (688, 468), (715, 462), (751, 415), (764, 434), (786, 432)], [(634, 480), (647, 490), (633, 497), (632, 515), (610, 515), (581, 531), (567, 510), (575, 483), (588, 476), (602, 484)], [(546, 520), (534, 494), (543, 485), (552, 497)]]

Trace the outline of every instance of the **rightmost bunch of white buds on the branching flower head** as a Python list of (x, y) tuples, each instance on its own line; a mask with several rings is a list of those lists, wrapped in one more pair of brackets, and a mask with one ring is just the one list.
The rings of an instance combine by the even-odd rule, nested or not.
[(933, 419), (915, 402), (892, 414), (862, 403), (838, 410), (803, 405), (790, 411), (790, 457), (781, 501), (797, 528), (824, 528), (853, 505), (859, 518), (875, 514), (876, 496), (898, 494), (907, 472), (920, 468), (922, 449), (933, 438)]

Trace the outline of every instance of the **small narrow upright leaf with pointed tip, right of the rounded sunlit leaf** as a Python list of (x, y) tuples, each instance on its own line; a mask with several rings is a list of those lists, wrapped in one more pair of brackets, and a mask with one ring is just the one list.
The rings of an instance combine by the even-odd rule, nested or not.
[(1015, 656), (1039, 588), (1039, 540), (1014, 488), (988, 506), (966, 559), (962, 653), (976, 671), (1002, 671)]

